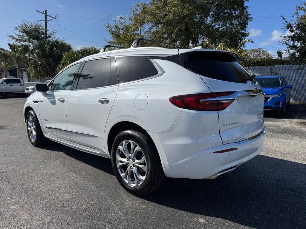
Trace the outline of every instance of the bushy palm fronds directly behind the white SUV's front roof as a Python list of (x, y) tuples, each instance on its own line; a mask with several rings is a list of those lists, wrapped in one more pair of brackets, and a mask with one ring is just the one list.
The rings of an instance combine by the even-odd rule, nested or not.
[(90, 46), (90, 47), (83, 47), (80, 49), (73, 49), (70, 50), (69, 52), (65, 52), (63, 54), (63, 59), (58, 65), (57, 72), (60, 72), (64, 67), (68, 66), (69, 64), (80, 60), (81, 58), (85, 56), (89, 56), (92, 54), (99, 53), (100, 49), (98, 49), (95, 46)]

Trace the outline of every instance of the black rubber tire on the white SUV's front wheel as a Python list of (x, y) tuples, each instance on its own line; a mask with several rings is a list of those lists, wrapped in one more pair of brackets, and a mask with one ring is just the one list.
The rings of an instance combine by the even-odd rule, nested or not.
[[(35, 137), (34, 140), (31, 140), (31, 136), (30, 136), (30, 133), (28, 131), (28, 128), (31, 127), (29, 125), (29, 122), (28, 122), (30, 116), (33, 117), (33, 123), (35, 124), (36, 137)], [(27, 123), (27, 133), (28, 133), (28, 138), (29, 138), (30, 143), (33, 146), (36, 146), (36, 147), (43, 146), (44, 144), (46, 144), (48, 139), (43, 136), (43, 131), (40, 128), (40, 125), (39, 125), (39, 122), (38, 122), (38, 118), (37, 118), (37, 116), (36, 116), (34, 111), (31, 110), (31, 111), (28, 112), (26, 123)], [(33, 131), (33, 129), (32, 129), (32, 131)]]

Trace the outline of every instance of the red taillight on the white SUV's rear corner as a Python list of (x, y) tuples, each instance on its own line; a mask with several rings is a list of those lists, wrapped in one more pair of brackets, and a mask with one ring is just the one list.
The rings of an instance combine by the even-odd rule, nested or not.
[(228, 96), (235, 92), (215, 92), (173, 96), (169, 100), (177, 107), (196, 111), (222, 111), (234, 100), (217, 99), (219, 96)]

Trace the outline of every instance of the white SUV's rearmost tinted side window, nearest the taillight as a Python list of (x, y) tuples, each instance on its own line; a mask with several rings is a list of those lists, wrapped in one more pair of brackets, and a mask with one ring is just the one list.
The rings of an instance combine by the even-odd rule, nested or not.
[(116, 66), (119, 83), (131, 82), (158, 74), (158, 71), (148, 57), (116, 57)]

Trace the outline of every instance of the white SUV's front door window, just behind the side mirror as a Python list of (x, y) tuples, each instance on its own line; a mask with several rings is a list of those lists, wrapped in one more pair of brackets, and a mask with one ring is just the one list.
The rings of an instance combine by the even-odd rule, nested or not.
[(73, 82), (73, 77), (76, 74), (80, 64), (75, 64), (64, 71), (62, 71), (56, 78), (54, 78), (51, 91), (70, 90)]

